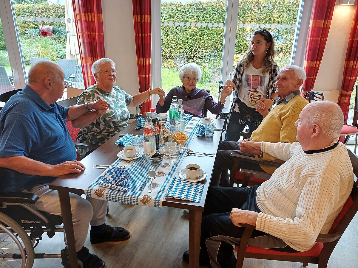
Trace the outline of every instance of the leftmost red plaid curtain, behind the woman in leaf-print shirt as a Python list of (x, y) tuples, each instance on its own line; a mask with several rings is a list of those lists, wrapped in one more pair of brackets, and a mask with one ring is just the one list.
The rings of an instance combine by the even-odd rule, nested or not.
[(72, 0), (84, 86), (95, 84), (91, 66), (105, 57), (101, 0)]

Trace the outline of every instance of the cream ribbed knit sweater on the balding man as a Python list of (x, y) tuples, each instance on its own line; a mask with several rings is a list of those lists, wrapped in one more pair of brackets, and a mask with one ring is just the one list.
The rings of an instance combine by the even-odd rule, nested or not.
[(309, 250), (319, 233), (328, 233), (352, 190), (347, 148), (339, 143), (326, 152), (309, 154), (298, 142), (262, 142), (261, 150), (286, 162), (257, 189), (261, 212), (256, 229), (298, 251)]

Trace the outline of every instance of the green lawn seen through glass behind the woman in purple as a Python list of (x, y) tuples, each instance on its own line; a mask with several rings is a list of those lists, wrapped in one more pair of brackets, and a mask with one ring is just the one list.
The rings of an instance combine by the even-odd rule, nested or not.
[[(182, 85), (183, 83), (179, 79), (179, 70), (175, 68), (161, 68), (161, 87), (165, 92), (169, 92), (174, 86)], [(218, 97), (219, 82), (198, 82), (197, 88), (203, 88), (210, 90), (210, 94), (214, 97), (214, 100)]]

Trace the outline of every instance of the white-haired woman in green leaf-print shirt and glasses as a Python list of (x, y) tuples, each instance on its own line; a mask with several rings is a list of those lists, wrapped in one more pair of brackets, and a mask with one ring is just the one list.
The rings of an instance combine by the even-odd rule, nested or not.
[[(109, 107), (105, 114), (99, 114), (100, 111), (88, 113), (86, 121), (88, 126), (79, 130), (77, 142), (98, 145), (105, 143), (128, 125), (130, 113), (127, 107), (136, 107), (153, 94), (164, 96), (164, 90), (160, 88), (147, 89), (145, 92), (132, 96), (119, 86), (115, 86), (116, 64), (111, 59), (96, 60), (92, 64), (91, 71), (96, 84), (89, 86), (78, 96), (77, 104), (87, 103), (86, 109), (90, 112), (89, 101), (103, 99), (107, 101)], [(72, 121), (75, 128), (79, 125), (77, 123), (76, 120)], [(81, 124), (83, 125), (83, 121)], [(79, 148), (78, 153), (83, 158), (88, 153), (88, 149)]]

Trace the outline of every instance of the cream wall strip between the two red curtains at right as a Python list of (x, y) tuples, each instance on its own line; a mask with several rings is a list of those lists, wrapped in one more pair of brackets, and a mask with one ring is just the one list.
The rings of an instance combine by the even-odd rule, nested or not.
[(340, 92), (342, 87), (344, 60), (355, 6), (340, 6), (338, 2), (339, 0), (334, 8), (326, 47), (314, 84), (315, 91), (338, 89)]

